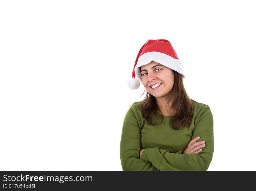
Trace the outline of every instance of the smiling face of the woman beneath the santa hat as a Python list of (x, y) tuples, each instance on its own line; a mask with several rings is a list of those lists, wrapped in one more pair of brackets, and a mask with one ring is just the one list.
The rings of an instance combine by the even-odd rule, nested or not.
[(173, 88), (173, 71), (160, 63), (151, 61), (149, 64), (141, 66), (141, 75), (146, 91), (156, 99), (165, 98)]

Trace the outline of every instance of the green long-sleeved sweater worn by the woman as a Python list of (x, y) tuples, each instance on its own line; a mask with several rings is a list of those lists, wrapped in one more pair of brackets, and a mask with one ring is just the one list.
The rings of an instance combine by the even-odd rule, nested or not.
[[(209, 106), (192, 100), (191, 125), (179, 130), (170, 126), (173, 116), (150, 125), (142, 117), (138, 104), (127, 111), (122, 127), (120, 159), (123, 170), (207, 170), (214, 152), (213, 115)], [(157, 112), (157, 115), (160, 114)], [(153, 122), (156, 116), (152, 117)], [(161, 122), (161, 118), (158, 119)], [(189, 142), (200, 136), (205, 147), (197, 154), (183, 154)], [(139, 151), (144, 151), (139, 158)]]

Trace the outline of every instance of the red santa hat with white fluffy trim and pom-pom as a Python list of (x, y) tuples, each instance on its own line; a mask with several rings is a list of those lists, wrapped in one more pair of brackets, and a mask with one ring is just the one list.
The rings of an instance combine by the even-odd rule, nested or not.
[[(175, 70), (185, 78), (181, 63), (171, 43), (164, 39), (148, 40), (147, 43), (141, 47), (135, 60), (131, 74), (132, 79), (127, 82), (129, 88), (133, 90), (139, 88), (140, 81), (142, 82), (140, 67), (150, 63), (152, 60)], [(135, 74), (139, 79), (135, 78)]]

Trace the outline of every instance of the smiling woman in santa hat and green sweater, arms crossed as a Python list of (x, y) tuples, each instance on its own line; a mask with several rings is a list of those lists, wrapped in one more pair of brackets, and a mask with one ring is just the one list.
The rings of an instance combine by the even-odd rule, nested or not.
[(207, 170), (214, 152), (209, 106), (190, 99), (184, 73), (168, 40), (148, 40), (136, 58), (131, 89), (143, 83), (143, 101), (133, 103), (122, 128), (123, 170)]

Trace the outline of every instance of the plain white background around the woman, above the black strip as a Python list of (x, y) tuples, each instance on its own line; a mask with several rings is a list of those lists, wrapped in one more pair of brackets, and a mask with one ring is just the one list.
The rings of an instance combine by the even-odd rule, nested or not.
[(214, 116), (208, 170), (256, 170), (253, 1), (1, 1), (0, 169), (122, 170), (127, 81), (167, 39)]

